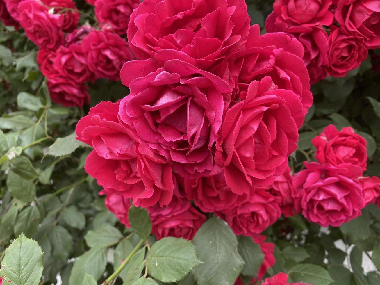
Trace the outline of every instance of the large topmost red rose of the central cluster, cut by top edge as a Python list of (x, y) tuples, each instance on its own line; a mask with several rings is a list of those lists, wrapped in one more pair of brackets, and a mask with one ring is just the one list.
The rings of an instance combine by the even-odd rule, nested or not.
[(138, 59), (165, 49), (169, 58), (190, 56), (206, 70), (240, 49), (249, 23), (244, 0), (144, 0), (131, 15), (127, 36)]

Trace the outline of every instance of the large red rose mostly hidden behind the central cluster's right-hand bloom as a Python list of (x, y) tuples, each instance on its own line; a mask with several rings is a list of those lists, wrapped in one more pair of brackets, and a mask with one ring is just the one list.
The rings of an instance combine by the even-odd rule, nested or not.
[(258, 25), (250, 27), (248, 39), (236, 57), (228, 61), (237, 89), (233, 97), (238, 96), (240, 90), (246, 90), (253, 80), (270, 76), (279, 89), (292, 90), (298, 95), (306, 114), (312, 105), (313, 96), (310, 92), (309, 74), (302, 60), (302, 44), (285, 33), (266, 33), (260, 36)]

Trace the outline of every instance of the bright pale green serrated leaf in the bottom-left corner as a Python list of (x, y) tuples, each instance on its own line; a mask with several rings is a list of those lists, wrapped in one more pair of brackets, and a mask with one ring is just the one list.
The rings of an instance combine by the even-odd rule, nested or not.
[[(3, 283), (14, 285), (38, 285), (42, 276), (42, 251), (36, 241), (21, 234), (5, 250), (0, 275)], [(10, 282), (9, 282), (10, 281)]]

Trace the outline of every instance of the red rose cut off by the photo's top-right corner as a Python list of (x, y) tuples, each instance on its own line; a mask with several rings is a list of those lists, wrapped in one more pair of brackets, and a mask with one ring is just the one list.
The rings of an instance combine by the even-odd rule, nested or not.
[(380, 6), (371, 0), (340, 0), (334, 13), (340, 27), (364, 40), (369, 49), (380, 47)]

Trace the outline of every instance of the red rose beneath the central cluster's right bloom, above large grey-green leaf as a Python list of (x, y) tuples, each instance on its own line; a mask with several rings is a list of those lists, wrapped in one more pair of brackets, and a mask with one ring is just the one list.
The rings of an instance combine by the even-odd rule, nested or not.
[(253, 236), (261, 233), (281, 215), (277, 198), (266, 189), (257, 187), (239, 199), (239, 207), (232, 213), (215, 213), (228, 223), (236, 235)]

